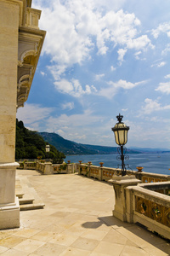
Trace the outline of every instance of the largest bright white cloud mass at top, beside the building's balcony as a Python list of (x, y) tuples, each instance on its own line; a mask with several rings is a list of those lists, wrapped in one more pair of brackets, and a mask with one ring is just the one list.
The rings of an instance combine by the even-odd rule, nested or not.
[[(47, 31), (42, 52), (51, 56), (54, 79), (59, 79), (75, 63), (82, 64), (97, 46), (99, 55), (117, 44), (119, 61), (127, 49), (144, 50), (153, 47), (146, 35), (140, 35), (139, 19), (134, 14), (117, 10), (125, 1), (97, 0), (39, 0), (34, 7), (42, 9), (40, 27)], [(111, 8), (110, 8), (111, 7)], [(105, 11), (104, 11), (105, 10)], [(50, 18), (49, 18), (50, 17)]]

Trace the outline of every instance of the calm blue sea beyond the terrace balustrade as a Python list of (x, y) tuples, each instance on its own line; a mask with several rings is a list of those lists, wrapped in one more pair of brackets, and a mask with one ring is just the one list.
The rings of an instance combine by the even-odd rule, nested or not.
[[(81, 154), (67, 155), (65, 162), (71, 160), (71, 163), (92, 162), (92, 165), (99, 166), (99, 162), (103, 162), (105, 167), (117, 168), (121, 166), (121, 161), (116, 160), (117, 154)], [(170, 175), (170, 154), (128, 154), (129, 160), (125, 160), (127, 169), (137, 171), (137, 166), (144, 167), (143, 172), (152, 172)]]

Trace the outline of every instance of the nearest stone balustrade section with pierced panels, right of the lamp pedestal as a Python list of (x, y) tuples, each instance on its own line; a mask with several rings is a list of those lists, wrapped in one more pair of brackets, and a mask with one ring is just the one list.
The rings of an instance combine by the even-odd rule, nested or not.
[(144, 224), (170, 239), (170, 182), (141, 183), (125, 190), (127, 222)]

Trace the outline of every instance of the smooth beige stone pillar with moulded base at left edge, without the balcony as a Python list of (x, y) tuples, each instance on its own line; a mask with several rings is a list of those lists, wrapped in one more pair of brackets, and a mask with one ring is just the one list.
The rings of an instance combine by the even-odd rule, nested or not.
[(20, 226), (14, 163), (19, 19), (19, 1), (0, 1), (0, 229)]

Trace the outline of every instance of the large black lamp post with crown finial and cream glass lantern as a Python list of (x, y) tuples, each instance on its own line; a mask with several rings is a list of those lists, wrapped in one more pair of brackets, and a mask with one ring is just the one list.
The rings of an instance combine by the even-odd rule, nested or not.
[(127, 143), (127, 131), (129, 127), (122, 122), (123, 116), (120, 113), (116, 118), (118, 122), (111, 130), (114, 131), (116, 144), (121, 146), (122, 176), (125, 176), (127, 171), (124, 164), (125, 156), (123, 155), (123, 145)]

